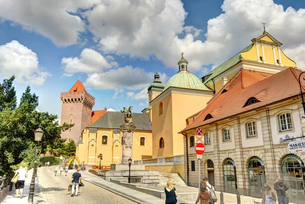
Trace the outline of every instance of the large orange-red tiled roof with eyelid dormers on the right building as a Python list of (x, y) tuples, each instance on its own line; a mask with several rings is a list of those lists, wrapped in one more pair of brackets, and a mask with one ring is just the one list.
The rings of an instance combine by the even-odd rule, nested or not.
[[(222, 93), (223, 90), (221, 90), (215, 95), (197, 118), (182, 131), (215, 123), (296, 96), (300, 94), (298, 83), (300, 73), (300, 70), (291, 67), (275, 75), (240, 70), (224, 86), (223, 90), (227, 92)], [(305, 83), (303, 82), (302, 88), (304, 92)], [(251, 97), (259, 102), (244, 107)], [(213, 118), (204, 121), (207, 114), (211, 114)]]

